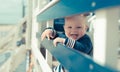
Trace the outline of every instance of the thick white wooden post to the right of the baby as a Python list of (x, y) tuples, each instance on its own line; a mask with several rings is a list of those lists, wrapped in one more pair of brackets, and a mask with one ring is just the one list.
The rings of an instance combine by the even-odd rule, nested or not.
[(117, 69), (119, 7), (96, 11), (94, 24), (94, 59)]

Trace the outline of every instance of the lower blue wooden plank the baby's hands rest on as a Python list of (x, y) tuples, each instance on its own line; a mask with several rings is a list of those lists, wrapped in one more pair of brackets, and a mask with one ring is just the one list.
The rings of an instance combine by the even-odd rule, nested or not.
[(94, 60), (87, 55), (72, 48), (67, 48), (62, 44), (58, 44), (55, 47), (51, 40), (48, 41), (44, 39), (42, 45), (49, 50), (69, 72), (117, 72), (108, 66), (101, 66), (95, 63)]

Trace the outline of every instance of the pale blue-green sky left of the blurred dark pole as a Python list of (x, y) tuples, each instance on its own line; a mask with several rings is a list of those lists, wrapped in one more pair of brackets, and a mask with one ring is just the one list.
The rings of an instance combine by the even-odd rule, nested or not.
[(16, 24), (22, 18), (22, 0), (0, 0), (0, 24)]

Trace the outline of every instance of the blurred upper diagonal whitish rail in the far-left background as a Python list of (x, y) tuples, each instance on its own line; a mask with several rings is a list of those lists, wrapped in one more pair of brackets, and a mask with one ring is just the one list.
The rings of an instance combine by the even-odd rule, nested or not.
[[(16, 47), (16, 42), (19, 38), (19, 31), (21, 29), (22, 24), (26, 21), (26, 17), (21, 19), (21, 21), (9, 32), (9, 34), (0, 40), (0, 53), (5, 52), (7, 50), (13, 50)], [(14, 41), (13, 41), (14, 40)], [(13, 46), (6, 47), (8, 45), (13, 43)]]

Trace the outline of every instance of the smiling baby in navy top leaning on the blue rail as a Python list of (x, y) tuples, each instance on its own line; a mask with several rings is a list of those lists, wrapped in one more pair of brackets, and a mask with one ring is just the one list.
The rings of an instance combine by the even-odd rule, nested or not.
[(62, 43), (69, 48), (92, 55), (93, 47), (86, 34), (87, 28), (87, 18), (84, 14), (65, 17), (64, 34), (57, 33), (53, 28), (46, 28), (41, 35), (41, 40), (47, 37), (53, 39), (54, 46), (57, 46), (57, 43)]

